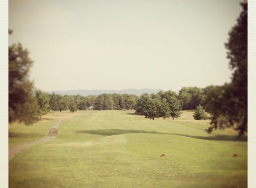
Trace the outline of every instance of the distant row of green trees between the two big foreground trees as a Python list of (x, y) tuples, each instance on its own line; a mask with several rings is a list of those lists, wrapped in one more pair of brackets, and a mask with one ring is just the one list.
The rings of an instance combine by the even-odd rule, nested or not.
[[(178, 118), (181, 110), (193, 110), (198, 105), (204, 106), (206, 89), (197, 87), (182, 87), (179, 94), (169, 90), (160, 91), (157, 94), (99, 94), (82, 96), (78, 95), (60, 95), (47, 94), (41, 90), (34, 90), (29, 97), (29, 112), (24, 107), (17, 107), (16, 110), (20, 116), (10, 116), (10, 123), (15, 119), (23, 121), (25, 124), (31, 124), (41, 120), (42, 115), (49, 111), (70, 110), (135, 110), (138, 115), (145, 115), (146, 118), (154, 120), (163, 117), (164, 119), (172, 117)], [(22, 97), (22, 95), (20, 95)], [(26, 95), (25, 95), (26, 96)], [(184, 97), (186, 96), (186, 97)], [(25, 100), (25, 99), (24, 99)], [(13, 104), (13, 103), (12, 103)], [(195, 106), (195, 107), (194, 107)], [(30, 116), (24, 116), (29, 114)]]

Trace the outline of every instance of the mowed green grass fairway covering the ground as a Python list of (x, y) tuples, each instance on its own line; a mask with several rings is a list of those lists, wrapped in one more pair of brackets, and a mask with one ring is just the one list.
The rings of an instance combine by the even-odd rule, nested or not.
[[(192, 114), (150, 121), (130, 111), (64, 111), (16, 126), (13, 134), (46, 135), (61, 121), (56, 139), (9, 162), (9, 188), (246, 188), (247, 137), (237, 140), (231, 129), (209, 135), (208, 121)], [(19, 140), (28, 141), (9, 138)]]

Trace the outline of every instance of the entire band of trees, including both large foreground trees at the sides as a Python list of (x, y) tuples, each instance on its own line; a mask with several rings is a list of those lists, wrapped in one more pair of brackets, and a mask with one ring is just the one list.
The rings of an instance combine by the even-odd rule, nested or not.
[[(136, 110), (146, 118), (178, 118), (180, 110), (194, 110), (195, 119), (210, 114), (211, 133), (214, 129), (232, 127), (239, 136), (248, 132), (248, 3), (240, 3), (243, 10), (237, 23), (228, 33), (225, 43), (229, 67), (233, 71), (231, 83), (206, 88), (182, 87), (179, 94), (160, 91), (157, 94), (100, 94), (98, 96), (70, 96), (46, 94), (34, 88), (29, 80), (33, 61), (20, 43), (8, 47), (8, 114), (9, 123), (29, 125), (49, 110)], [(9, 34), (13, 31), (9, 30)]]

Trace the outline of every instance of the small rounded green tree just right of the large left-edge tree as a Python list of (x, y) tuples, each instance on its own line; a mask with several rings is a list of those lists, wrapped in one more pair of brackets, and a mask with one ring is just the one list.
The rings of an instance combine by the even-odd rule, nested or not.
[(46, 92), (42, 92), (41, 90), (36, 90), (35, 95), (38, 102), (37, 112), (41, 120), (42, 115), (45, 115), (50, 111), (49, 98), (48, 94)]

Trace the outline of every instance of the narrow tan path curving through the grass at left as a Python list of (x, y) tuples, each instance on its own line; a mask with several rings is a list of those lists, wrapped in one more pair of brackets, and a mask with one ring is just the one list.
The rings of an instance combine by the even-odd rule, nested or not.
[(34, 146), (36, 144), (39, 143), (45, 143), (48, 142), (50, 140), (53, 140), (56, 138), (56, 136), (58, 135), (58, 127), (59, 127), (60, 121), (56, 122), (50, 129), (48, 135), (42, 139), (36, 140), (34, 142), (31, 143), (25, 143), (25, 144), (21, 144), (21, 145), (14, 145), (14, 146), (9, 146), (9, 161), (11, 159), (13, 159), (15, 157), (15, 155), (17, 155), (19, 152), (21, 152), (22, 150)]

